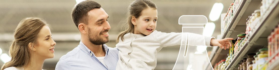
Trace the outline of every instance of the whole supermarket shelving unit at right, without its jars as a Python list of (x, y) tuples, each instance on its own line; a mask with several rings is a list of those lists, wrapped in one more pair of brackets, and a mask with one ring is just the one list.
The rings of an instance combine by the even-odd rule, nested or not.
[[(240, 60), (246, 57), (249, 53), (256, 53), (261, 48), (267, 48), (267, 37), (270, 35), (271, 31), (278, 25), (279, 22), (279, 0), (274, 0), (267, 11), (261, 15), (259, 19), (254, 20), (254, 24), (251, 28), (251, 32), (246, 37), (247, 41), (244, 43), (242, 48), (235, 53), (234, 58), (227, 66), (226, 70), (237, 70), (238, 63)], [(236, 39), (238, 34), (244, 34), (246, 30), (246, 19), (255, 10), (259, 9), (261, 6), (261, 0), (242, 0), (240, 6), (238, 7), (236, 14), (233, 16), (231, 23), (226, 28), (222, 38), (234, 38)], [(257, 22), (258, 21), (258, 22)], [(209, 56), (211, 65), (214, 66), (218, 61), (227, 58), (228, 50), (223, 50), (217, 47), (212, 51), (212, 55)], [(268, 69), (279, 69), (279, 61), (275, 63)], [(210, 69), (208, 65), (207, 69)]]

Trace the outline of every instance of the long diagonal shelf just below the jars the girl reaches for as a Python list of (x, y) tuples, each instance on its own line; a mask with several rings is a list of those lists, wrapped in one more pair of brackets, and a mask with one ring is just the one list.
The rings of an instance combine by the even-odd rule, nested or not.
[(242, 60), (242, 58), (246, 57), (247, 54), (256, 53), (258, 49), (261, 48), (267, 48), (267, 37), (279, 22), (278, 2), (279, 0), (275, 0), (273, 4), (271, 4), (269, 9), (267, 9), (265, 14), (263, 14), (259, 19), (259, 22), (252, 23), (256, 25), (251, 29), (246, 43), (240, 49), (239, 53), (241, 54), (236, 54), (234, 59), (231, 61), (231, 64), (227, 66), (226, 70), (233, 70), (238, 67), (237, 64)]

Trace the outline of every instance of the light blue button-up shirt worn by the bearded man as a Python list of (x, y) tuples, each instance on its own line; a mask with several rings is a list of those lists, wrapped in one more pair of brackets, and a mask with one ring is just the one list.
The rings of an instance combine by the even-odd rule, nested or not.
[(103, 44), (105, 49), (104, 66), (82, 42), (72, 51), (63, 55), (56, 64), (55, 70), (115, 70), (119, 50)]

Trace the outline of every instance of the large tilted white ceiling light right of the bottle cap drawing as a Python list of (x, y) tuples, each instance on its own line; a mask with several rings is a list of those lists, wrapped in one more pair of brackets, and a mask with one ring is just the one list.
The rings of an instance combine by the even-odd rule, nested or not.
[(223, 11), (223, 8), (224, 8), (224, 6), (222, 3), (215, 3), (209, 14), (209, 19), (211, 21), (216, 21), (217, 19), (219, 19), (220, 14)]

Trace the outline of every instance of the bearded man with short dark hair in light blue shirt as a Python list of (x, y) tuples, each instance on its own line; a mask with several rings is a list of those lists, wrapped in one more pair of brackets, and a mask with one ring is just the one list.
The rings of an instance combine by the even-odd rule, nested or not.
[(72, 19), (81, 34), (80, 45), (62, 56), (56, 70), (115, 70), (118, 49), (110, 48), (109, 15), (94, 1), (82, 1), (72, 11)]

